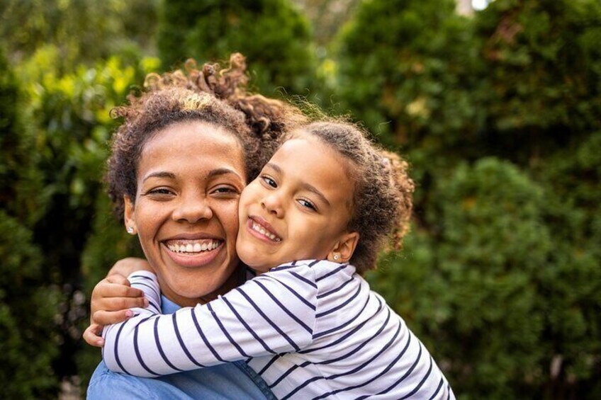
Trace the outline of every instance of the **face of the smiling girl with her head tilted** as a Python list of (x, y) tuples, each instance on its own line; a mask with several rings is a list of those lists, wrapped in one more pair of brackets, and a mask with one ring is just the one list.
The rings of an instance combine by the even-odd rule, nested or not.
[[(350, 258), (358, 235), (347, 232), (354, 193), (347, 171), (314, 137), (285, 142), (240, 197), (240, 259), (265, 272), (293, 260), (332, 260), (332, 251)], [(344, 257), (349, 236), (354, 243)]]

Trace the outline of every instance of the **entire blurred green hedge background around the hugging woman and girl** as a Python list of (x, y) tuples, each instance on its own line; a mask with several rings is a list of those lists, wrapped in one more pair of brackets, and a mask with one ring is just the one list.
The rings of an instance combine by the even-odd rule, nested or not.
[(466, 3), (0, 0), (0, 398), (77, 399), (100, 360), (91, 288), (140, 254), (109, 110), (238, 51), (410, 161), (412, 232), (369, 280), (460, 399), (600, 399), (601, 1)]

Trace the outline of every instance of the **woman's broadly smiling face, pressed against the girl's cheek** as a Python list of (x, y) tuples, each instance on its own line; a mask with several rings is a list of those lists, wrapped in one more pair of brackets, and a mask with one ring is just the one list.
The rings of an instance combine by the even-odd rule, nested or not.
[(182, 305), (237, 285), (237, 207), (246, 183), (242, 147), (223, 128), (178, 122), (143, 147), (125, 224), (140, 238), (161, 290)]

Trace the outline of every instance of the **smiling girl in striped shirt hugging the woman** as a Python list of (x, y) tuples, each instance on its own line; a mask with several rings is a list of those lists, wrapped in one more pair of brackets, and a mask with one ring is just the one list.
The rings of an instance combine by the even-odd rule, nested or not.
[[(150, 306), (105, 328), (106, 365), (156, 377), (245, 360), (281, 399), (454, 398), (422, 343), (361, 278), (386, 239), (399, 244), (405, 234), (406, 167), (354, 125), (293, 131), (240, 196), (236, 250), (257, 276), (162, 316), (155, 275), (131, 275)], [(157, 202), (177, 196), (160, 177), (145, 193)], [(139, 232), (136, 217), (126, 202), (125, 224)], [(159, 246), (192, 265), (215, 242), (177, 237)]]

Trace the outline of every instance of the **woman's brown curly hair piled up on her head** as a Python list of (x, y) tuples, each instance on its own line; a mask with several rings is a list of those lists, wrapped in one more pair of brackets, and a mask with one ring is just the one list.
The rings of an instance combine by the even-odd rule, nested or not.
[(208, 122), (234, 135), (245, 157), (251, 181), (279, 146), (284, 132), (305, 123), (293, 105), (246, 90), (245, 57), (230, 56), (227, 67), (188, 60), (184, 69), (148, 74), (145, 90), (130, 93), (128, 104), (111, 110), (123, 123), (113, 135), (105, 180), (118, 217), (123, 196), (135, 200), (137, 164), (144, 145), (159, 130), (177, 122)]

